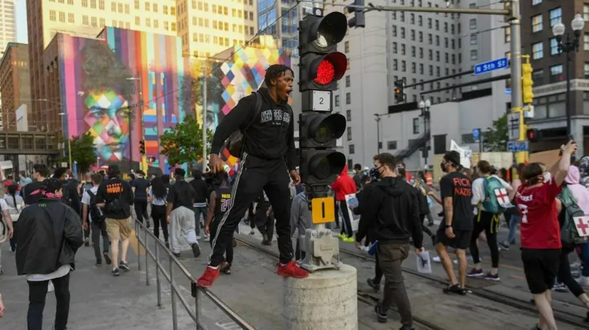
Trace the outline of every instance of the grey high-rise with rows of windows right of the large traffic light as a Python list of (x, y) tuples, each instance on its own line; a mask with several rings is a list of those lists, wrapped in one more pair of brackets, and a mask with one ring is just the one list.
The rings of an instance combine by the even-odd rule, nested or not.
[[(332, 2), (350, 3), (343, 0)], [(494, 0), (387, 0), (384, 5), (503, 8), (502, 3)], [(345, 9), (342, 6), (327, 6), (327, 10)], [(339, 51), (347, 56), (349, 65), (346, 75), (339, 82), (339, 89), (334, 92), (334, 110), (347, 117), (348, 128), (343, 144), (349, 164), (372, 164), (372, 156), (377, 151), (387, 151), (398, 156), (402, 152), (408, 157), (420, 148), (429, 149), (431, 130), (425, 127), (423, 117), (416, 115), (416, 125), (401, 127), (403, 133), (400, 135), (392, 134), (398, 129), (393, 129), (386, 122), (386, 118), (393, 114), (418, 109), (422, 99), (429, 99), (432, 104), (439, 105), (457, 103), (479, 94), (492, 95), (488, 100), (489, 107), (484, 112), (477, 108), (461, 111), (462, 117), (454, 118), (454, 125), (446, 127), (446, 131), (458, 130), (458, 137), (463, 134), (465, 141), (457, 141), (459, 143), (471, 143), (467, 140), (471, 137), (472, 129), (468, 127), (471, 121), (464, 116), (484, 118), (483, 122), (476, 124), (486, 128), (491, 126), (493, 119), (505, 114), (509, 96), (505, 92), (504, 80), (453, 86), (504, 75), (508, 70), (477, 77), (462, 75), (441, 79), (472, 70), (476, 63), (505, 56), (509, 43), (503, 26), (506, 23), (502, 16), (403, 11), (366, 13), (366, 27), (350, 29), (339, 44)], [(403, 78), (406, 85), (440, 80), (406, 87), (406, 102), (396, 104), (394, 81)], [(493, 111), (488, 111), (489, 108)], [(407, 122), (411, 122), (411, 119), (407, 119)], [(412, 152), (407, 154), (406, 149), (409, 147)]]

